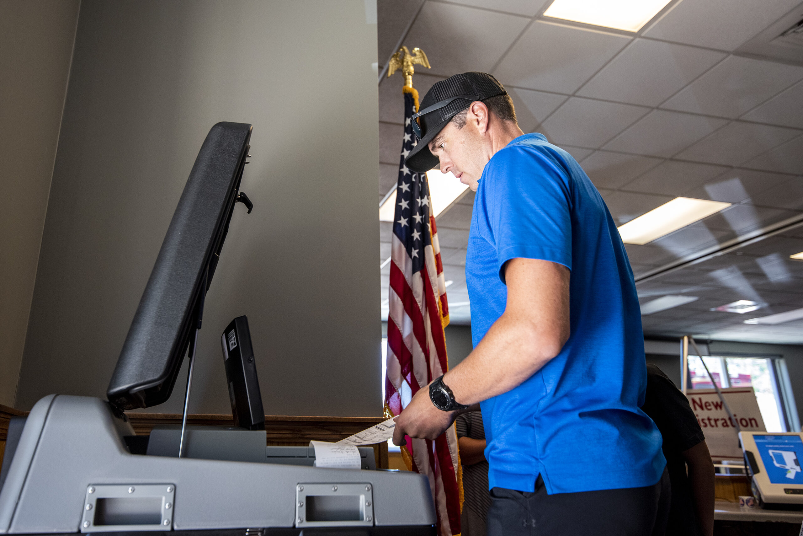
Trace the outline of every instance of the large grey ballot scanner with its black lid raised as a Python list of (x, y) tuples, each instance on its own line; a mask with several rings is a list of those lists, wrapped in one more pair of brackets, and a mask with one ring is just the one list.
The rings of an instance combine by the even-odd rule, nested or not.
[[(218, 123), (206, 137), (108, 400), (48, 395), (24, 423), (10, 427), (21, 432), (10, 429), (6, 444), (0, 534), (435, 534), (423, 475), (311, 467), (306, 448), (303, 455), (297, 448), (289, 455), (271, 452), (259, 419), (244, 415), (248, 426), (163, 429), (149, 440), (137, 436), (124, 415), (169, 399), (185, 354), (193, 369), (204, 297), (235, 204), (242, 201), (251, 211), (238, 192), (250, 137), (251, 125), (240, 123)], [(190, 383), (191, 375), (187, 391)], [(362, 466), (373, 466), (367, 460), (373, 449), (363, 450)]]

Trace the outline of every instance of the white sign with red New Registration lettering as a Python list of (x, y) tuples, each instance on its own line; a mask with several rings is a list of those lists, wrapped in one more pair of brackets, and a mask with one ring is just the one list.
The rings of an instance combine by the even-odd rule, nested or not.
[[(752, 387), (722, 389), (722, 395), (731, 408), (733, 419), (743, 432), (766, 432), (764, 419)], [(691, 410), (695, 412), (712, 458), (741, 458), (742, 449), (736, 427), (728, 417), (722, 401), (714, 389), (695, 389), (686, 394)]]

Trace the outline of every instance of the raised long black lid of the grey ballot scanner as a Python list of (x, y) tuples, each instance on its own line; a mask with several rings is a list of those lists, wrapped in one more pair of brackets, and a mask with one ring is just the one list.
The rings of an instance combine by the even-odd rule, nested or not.
[(164, 403), (199, 327), (248, 156), (251, 125), (218, 123), (203, 142), (108, 385), (123, 409)]

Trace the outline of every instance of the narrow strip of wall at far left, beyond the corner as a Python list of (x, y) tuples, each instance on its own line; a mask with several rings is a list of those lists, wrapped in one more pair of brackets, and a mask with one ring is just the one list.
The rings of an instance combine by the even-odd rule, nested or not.
[(14, 405), (79, 0), (0, 1), (0, 403)]

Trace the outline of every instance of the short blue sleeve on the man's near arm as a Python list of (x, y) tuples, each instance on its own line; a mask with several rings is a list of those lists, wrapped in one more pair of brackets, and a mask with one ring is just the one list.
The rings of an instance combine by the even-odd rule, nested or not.
[[(499, 279), (511, 259), (549, 260), (572, 269), (569, 174), (548, 154), (514, 145), (496, 153), (483, 180)], [(489, 180), (490, 179), (490, 180)]]

